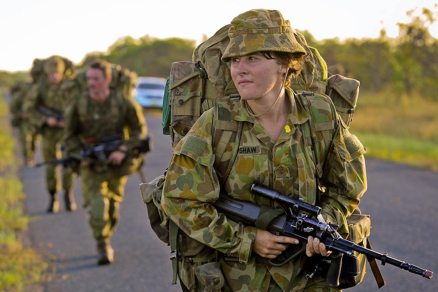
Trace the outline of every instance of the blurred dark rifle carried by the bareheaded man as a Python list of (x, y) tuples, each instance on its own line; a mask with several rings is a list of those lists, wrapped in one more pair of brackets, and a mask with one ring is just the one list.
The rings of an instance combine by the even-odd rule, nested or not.
[[(35, 167), (40, 167), (46, 164), (53, 164), (58, 165), (61, 164), (63, 166), (72, 166), (75, 164), (79, 164), (81, 158), (91, 158), (96, 159), (98, 161), (105, 161), (108, 156), (111, 154), (111, 152), (118, 149), (118, 147), (121, 145), (122, 137), (124, 136), (123, 133), (111, 135), (104, 137), (99, 140), (99, 144), (94, 147), (86, 148), (84, 150), (81, 150), (79, 152), (79, 156), (67, 156), (60, 159), (52, 159), (48, 161), (43, 161), (42, 163), (38, 163), (35, 165)], [(92, 143), (95, 142), (95, 138), (89, 138), (85, 142), (86, 143)], [(144, 140), (141, 141), (140, 145), (136, 148), (134, 148), (134, 154), (138, 155), (140, 153), (147, 153), (151, 151), (151, 141), (149, 137), (146, 137)]]

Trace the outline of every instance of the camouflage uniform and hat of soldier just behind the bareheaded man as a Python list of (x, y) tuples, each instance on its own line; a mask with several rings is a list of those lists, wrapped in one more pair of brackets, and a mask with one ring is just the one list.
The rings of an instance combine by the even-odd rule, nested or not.
[[(58, 72), (62, 73), (65, 70), (64, 61), (58, 56), (50, 57), (44, 64), (44, 71), (47, 73)], [(47, 74), (46, 73), (46, 74)], [(53, 109), (60, 113), (64, 112), (67, 105), (71, 100), (67, 96), (67, 92), (62, 90), (62, 82), (58, 88), (53, 89), (46, 78), (42, 78), (39, 82), (30, 87), (28, 98), (25, 101), (23, 107), (25, 113), (29, 117), (29, 121), (33, 124), (36, 131), (42, 135), (42, 150), (44, 161), (53, 160), (62, 156), (62, 136), (64, 129), (58, 126), (48, 126), (46, 124), (47, 115), (41, 112), (38, 108), (40, 106)], [(54, 164), (47, 164), (45, 168), (46, 172), (46, 185), (50, 195), (50, 204), (48, 212), (56, 213), (58, 211), (58, 194), (60, 190), (59, 183), (59, 166)], [(73, 196), (74, 182), (76, 174), (71, 167), (62, 168), (62, 189), (64, 189), (64, 199), (66, 208), (69, 211), (76, 209), (76, 203)]]

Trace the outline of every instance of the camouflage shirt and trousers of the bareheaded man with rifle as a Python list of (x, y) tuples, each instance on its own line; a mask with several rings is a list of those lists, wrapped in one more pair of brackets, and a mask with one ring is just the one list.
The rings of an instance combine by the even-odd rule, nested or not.
[[(92, 100), (83, 92), (66, 111), (65, 145), (69, 155), (77, 155), (88, 138), (100, 139), (129, 131), (129, 139), (122, 141), (128, 146), (128, 156), (121, 166), (107, 161), (92, 161), (80, 168), (84, 207), (90, 207), (89, 225), (98, 242), (98, 250), (110, 249), (119, 219), (119, 204), (123, 201), (128, 174), (140, 167), (141, 159), (133, 157), (132, 149), (147, 134), (147, 125), (142, 110), (132, 99), (111, 91), (102, 104)], [(127, 137), (127, 136), (126, 136)], [(93, 147), (93, 143), (88, 143)]]

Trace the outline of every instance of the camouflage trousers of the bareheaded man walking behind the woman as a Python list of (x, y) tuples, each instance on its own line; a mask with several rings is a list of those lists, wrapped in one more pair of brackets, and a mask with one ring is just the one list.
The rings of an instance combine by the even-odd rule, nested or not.
[(93, 237), (110, 238), (119, 221), (120, 203), (128, 176), (116, 176), (111, 170), (95, 172), (89, 167), (80, 170), (84, 207), (89, 207), (89, 226)]

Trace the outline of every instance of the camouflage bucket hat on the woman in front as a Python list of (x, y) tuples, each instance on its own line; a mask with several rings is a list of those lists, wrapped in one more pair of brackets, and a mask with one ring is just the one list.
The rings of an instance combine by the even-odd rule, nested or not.
[(277, 10), (249, 10), (238, 15), (231, 21), (228, 36), (230, 43), (222, 56), (225, 62), (260, 51), (306, 54), (295, 39), (289, 20)]

